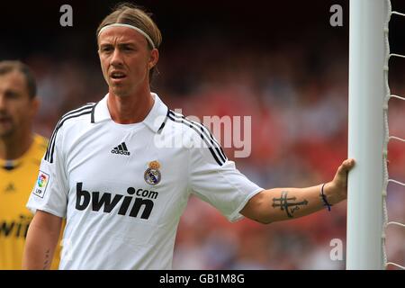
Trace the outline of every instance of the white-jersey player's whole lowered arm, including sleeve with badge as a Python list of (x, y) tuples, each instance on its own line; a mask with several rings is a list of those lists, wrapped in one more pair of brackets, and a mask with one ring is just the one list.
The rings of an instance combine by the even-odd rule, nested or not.
[[(73, 117), (73, 114), (67, 115)], [(40, 162), (37, 182), (26, 205), (34, 217), (25, 241), (23, 269), (49, 269), (62, 219), (67, 216), (68, 184), (62, 145), (64, 131), (61, 126), (67, 115), (58, 121), (49, 139), (48, 148)]]

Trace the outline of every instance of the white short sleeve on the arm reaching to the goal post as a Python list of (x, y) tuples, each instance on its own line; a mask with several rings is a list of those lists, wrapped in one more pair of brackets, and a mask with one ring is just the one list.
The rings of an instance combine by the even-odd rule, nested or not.
[(264, 189), (240, 173), (211, 133), (206, 128), (203, 130), (205, 133), (198, 135), (197, 141), (202, 145), (195, 145), (197, 138), (193, 138), (191, 148), (191, 192), (217, 208), (229, 221), (240, 220), (243, 216), (239, 211)]

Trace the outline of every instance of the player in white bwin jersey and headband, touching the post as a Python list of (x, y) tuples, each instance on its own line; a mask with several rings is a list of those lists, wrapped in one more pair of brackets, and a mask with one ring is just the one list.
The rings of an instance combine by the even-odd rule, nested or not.
[(36, 213), (24, 268), (45, 266), (62, 218), (69, 247), (60, 269), (169, 269), (190, 194), (230, 221), (262, 223), (347, 198), (353, 159), (327, 184), (265, 190), (236, 169), (209, 130), (168, 109), (150, 92), (161, 34), (143, 10), (120, 5), (96, 36), (108, 94), (58, 121), (27, 203)]

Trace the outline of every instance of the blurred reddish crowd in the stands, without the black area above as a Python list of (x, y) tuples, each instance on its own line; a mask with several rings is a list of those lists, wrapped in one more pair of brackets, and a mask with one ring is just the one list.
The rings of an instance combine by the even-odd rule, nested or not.
[[(308, 44), (308, 45), (307, 45)], [(153, 91), (185, 115), (251, 116), (251, 154), (238, 169), (263, 188), (304, 187), (330, 181), (347, 157), (347, 47), (293, 40), (275, 47), (220, 39), (184, 40), (161, 51)], [(41, 54), (25, 60), (38, 78), (41, 99), (35, 130), (50, 136), (58, 118), (107, 93), (99, 63)], [(399, 77), (390, 83), (405, 94)], [(405, 103), (390, 103), (392, 135), (405, 137)], [(218, 135), (217, 135), (218, 136)], [(222, 139), (223, 140), (223, 139)], [(390, 175), (405, 181), (405, 146), (391, 143)], [(405, 220), (405, 188), (390, 184), (390, 220)], [(344, 269), (332, 260), (332, 239), (346, 251), (346, 202), (298, 220), (261, 225), (229, 223), (192, 197), (180, 222), (175, 269)], [(376, 225), (379, 225), (376, 223)], [(405, 231), (387, 230), (388, 259), (405, 263)]]

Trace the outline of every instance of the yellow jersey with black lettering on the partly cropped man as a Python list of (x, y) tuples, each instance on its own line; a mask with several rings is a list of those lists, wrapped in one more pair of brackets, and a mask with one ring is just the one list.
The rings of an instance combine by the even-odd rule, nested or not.
[[(30, 149), (14, 160), (0, 159), (0, 269), (21, 269), (31, 211), (25, 205), (37, 181), (48, 139), (34, 135)], [(59, 246), (58, 246), (59, 247)], [(59, 249), (52, 268), (58, 268)]]

